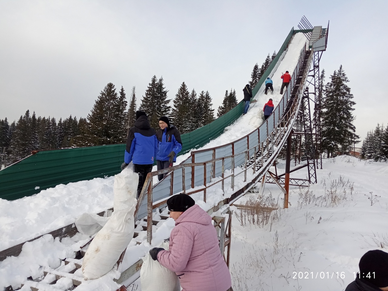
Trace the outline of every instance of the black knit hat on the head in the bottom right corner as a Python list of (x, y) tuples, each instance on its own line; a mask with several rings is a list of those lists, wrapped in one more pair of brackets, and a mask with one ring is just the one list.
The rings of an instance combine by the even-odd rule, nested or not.
[(379, 249), (367, 251), (361, 257), (359, 267), (359, 276), (364, 281), (378, 288), (388, 286), (388, 253), (385, 251)]

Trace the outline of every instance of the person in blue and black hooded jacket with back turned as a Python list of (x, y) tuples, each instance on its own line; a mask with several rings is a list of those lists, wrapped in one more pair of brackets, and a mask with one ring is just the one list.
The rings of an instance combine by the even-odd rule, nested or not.
[(133, 172), (139, 174), (137, 199), (139, 199), (147, 174), (152, 171), (157, 152), (158, 140), (155, 130), (149, 125), (147, 114), (143, 111), (136, 111), (135, 126), (130, 128), (126, 138), (124, 163), (121, 165), (121, 170), (124, 170), (131, 161), (133, 162)]

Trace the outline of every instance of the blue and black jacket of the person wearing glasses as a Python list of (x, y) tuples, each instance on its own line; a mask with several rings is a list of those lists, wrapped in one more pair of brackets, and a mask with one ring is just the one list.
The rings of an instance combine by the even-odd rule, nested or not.
[(166, 127), (164, 130), (159, 129), (156, 132), (156, 138), (158, 139), (158, 153), (156, 154), (156, 160), (168, 161), (171, 151), (175, 152), (173, 163), (177, 161), (177, 154), (182, 149), (182, 140), (177, 128), (173, 125)]

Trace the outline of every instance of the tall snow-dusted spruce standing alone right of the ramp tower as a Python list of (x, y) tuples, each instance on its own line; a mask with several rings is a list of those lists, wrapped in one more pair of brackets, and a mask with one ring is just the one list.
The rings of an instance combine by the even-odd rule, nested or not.
[(346, 85), (349, 80), (342, 65), (330, 78), (324, 90), (321, 115), (322, 150), (327, 152), (328, 158), (337, 152), (348, 153), (353, 142), (359, 142), (352, 114), (356, 103), (352, 100), (350, 87)]

